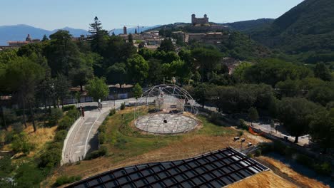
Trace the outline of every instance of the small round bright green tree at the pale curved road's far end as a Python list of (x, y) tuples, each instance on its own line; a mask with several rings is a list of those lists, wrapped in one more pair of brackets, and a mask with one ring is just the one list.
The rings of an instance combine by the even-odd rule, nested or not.
[[(109, 93), (108, 85), (103, 80), (103, 78), (93, 78), (88, 81), (86, 85), (86, 90), (88, 91), (88, 96), (91, 96), (94, 101), (103, 100)], [(98, 103), (98, 106), (100, 103)]]

